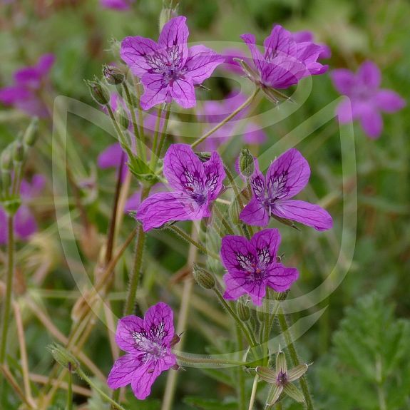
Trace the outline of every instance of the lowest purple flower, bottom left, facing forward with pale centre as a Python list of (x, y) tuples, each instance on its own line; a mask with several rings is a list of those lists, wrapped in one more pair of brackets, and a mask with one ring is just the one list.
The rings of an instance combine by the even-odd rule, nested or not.
[(126, 316), (118, 321), (116, 343), (127, 354), (120, 357), (108, 375), (111, 389), (131, 384), (137, 399), (149, 396), (161, 372), (176, 364), (173, 347), (173, 311), (165, 303), (150, 307), (144, 319)]

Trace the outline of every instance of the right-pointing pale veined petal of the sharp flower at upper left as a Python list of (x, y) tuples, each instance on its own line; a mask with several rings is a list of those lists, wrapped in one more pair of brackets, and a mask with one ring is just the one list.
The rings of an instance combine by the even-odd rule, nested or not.
[(192, 79), (194, 84), (203, 83), (212, 76), (212, 72), (225, 59), (215, 51), (205, 46), (193, 46), (189, 49), (188, 60), (185, 63), (185, 76)]

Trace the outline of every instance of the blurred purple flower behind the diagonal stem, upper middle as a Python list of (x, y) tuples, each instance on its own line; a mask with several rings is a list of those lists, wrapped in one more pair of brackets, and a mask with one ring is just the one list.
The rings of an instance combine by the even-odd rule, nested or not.
[[(223, 101), (206, 101), (202, 109), (198, 110), (198, 119), (207, 123), (220, 123), (232, 111), (235, 111), (246, 100), (242, 93), (232, 92)], [(240, 119), (245, 116), (247, 109), (242, 110), (235, 116)], [(212, 128), (212, 126), (210, 128)], [(226, 143), (235, 132), (235, 123), (228, 121), (219, 130), (215, 131), (209, 138), (199, 145), (201, 150), (217, 150), (223, 143)], [(266, 135), (260, 127), (252, 121), (248, 121), (244, 130), (242, 130), (243, 140), (245, 143), (257, 144), (264, 143)]]

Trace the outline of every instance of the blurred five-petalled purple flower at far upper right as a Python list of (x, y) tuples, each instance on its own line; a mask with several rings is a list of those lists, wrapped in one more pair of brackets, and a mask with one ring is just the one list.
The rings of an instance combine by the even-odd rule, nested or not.
[(339, 122), (359, 120), (370, 138), (379, 138), (383, 129), (380, 111), (394, 113), (406, 105), (399, 94), (380, 88), (380, 70), (371, 61), (365, 61), (356, 74), (340, 68), (332, 71), (331, 76), (337, 91), (349, 97), (337, 107)]

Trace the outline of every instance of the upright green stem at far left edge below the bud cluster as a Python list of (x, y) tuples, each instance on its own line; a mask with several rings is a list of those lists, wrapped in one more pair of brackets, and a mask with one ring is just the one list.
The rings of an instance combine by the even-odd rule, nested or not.
[(13, 295), (14, 277), (14, 215), (8, 215), (7, 219), (8, 240), (7, 240), (7, 276), (6, 276), (6, 296), (4, 297), (1, 344), (0, 344), (0, 364), (6, 362), (7, 336), (9, 334), (9, 319), (11, 309), (11, 297)]

